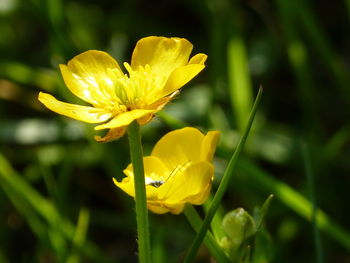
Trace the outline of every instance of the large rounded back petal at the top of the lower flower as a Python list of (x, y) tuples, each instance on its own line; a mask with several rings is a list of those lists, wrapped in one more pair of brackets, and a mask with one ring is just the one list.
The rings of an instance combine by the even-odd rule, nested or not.
[(161, 159), (169, 169), (200, 160), (204, 135), (195, 128), (186, 127), (164, 135), (155, 145), (152, 156)]

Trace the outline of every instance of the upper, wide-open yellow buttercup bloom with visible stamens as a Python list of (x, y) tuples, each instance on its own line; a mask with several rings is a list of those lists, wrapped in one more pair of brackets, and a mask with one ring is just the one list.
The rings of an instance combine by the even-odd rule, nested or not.
[(109, 129), (106, 142), (124, 135), (134, 120), (148, 123), (183, 85), (205, 66), (205, 54), (190, 59), (192, 44), (183, 38), (146, 37), (136, 44), (131, 65), (124, 74), (107, 53), (97, 50), (77, 55), (60, 65), (68, 89), (92, 106), (58, 101), (40, 92), (39, 100), (50, 110), (88, 123), (100, 123), (96, 130)]

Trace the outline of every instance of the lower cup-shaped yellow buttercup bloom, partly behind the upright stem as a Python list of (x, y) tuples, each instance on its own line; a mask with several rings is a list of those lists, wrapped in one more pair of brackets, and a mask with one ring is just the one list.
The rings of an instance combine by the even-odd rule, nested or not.
[[(219, 139), (218, 131), (203, 135), (195, 128), (167, 133), (143, 158), (147, 207), (152, 212), (179, 214), (186, 203), (203, 204), (210, 192), (214, 175), (212, 160)], [(135, 197), (132, 164), (126, 177), (114, 183)]]

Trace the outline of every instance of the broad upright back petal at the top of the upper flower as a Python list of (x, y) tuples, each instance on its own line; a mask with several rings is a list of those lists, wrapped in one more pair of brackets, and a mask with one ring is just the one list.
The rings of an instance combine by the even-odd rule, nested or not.
[(188, 63), (192, 44), (184, 38), (146, 37), (140, 39), (131, 59), (131, 67), (151, 67), (152, 71), (168, 76), (174, 69)]

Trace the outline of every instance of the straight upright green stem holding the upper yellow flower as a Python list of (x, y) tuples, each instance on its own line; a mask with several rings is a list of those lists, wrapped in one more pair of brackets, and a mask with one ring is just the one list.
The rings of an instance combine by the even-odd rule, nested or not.
[(146, 200), (145, 175), (143, 170), (143, 153), (140, 125), (134, 121), (128, 127), (130, 156), (134, 170), (136, 222), (139, 247), (139, 262), (151, 262), (151, 246), (149, 241), (149, 223)]

